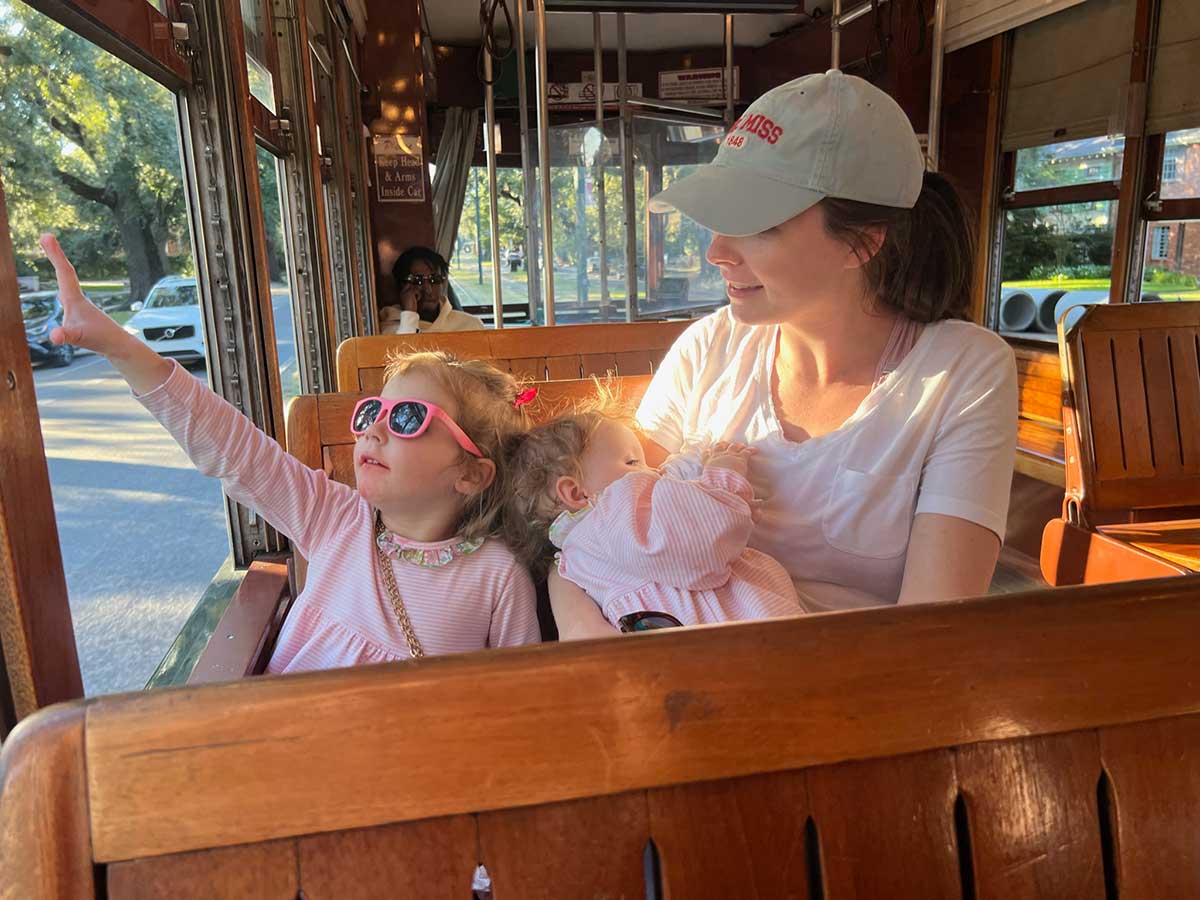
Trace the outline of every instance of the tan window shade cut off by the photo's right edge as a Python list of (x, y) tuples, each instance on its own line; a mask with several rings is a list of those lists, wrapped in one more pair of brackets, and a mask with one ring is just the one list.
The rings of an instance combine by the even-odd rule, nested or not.
[(1146, 131), (1200, 126), (1200, 0), (1163, 0)]

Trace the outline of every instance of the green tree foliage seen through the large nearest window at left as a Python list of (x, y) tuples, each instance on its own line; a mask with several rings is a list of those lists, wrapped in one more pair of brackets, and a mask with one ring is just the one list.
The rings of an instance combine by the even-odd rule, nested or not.
[(136, 296), (188, 246), (170, 92), (20, 2), (0, 0), (0, 166), (18, 268), (49, 278), (37, 235), (59, 233), (84, 277)]

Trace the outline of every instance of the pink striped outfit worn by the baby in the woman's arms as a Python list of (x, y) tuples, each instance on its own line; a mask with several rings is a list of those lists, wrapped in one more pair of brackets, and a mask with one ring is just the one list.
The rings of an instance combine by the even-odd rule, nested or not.
[(643, 610), (685, 625), (798, 616), (784, 566), (746, 547), (752, 497), (730, 469), (707, 468), (695, 481), (632, 472), (556, 528), (558, 571), (612, 624)]

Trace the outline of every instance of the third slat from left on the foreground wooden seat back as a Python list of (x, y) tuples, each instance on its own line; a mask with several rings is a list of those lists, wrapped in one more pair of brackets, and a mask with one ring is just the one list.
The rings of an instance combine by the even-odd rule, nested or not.
[(497, 900), (643, 898), (648, 838), (641, 791), (479, 816)]

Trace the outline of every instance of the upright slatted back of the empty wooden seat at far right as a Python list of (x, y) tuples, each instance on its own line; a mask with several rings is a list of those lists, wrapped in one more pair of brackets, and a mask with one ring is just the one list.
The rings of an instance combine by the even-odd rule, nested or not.
[(1058, 341), (1075, 522), (1200, 506), (1200, 302), (1092, 306)]

